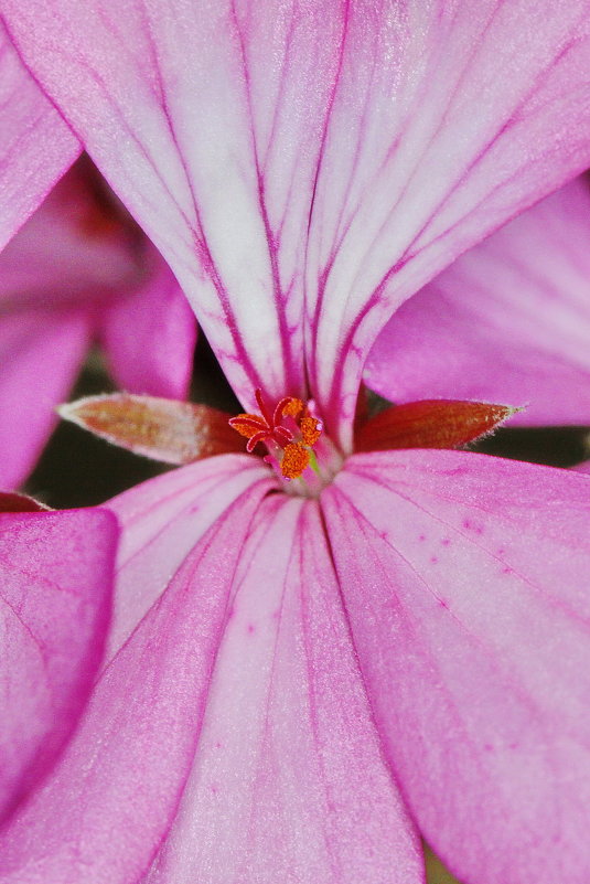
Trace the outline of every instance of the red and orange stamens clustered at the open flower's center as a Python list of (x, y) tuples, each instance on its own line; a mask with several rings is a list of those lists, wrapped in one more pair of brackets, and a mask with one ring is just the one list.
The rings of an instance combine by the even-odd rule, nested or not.
[(319, 472), (314, 446), (323, 426), (311, 414), (309, 403), (285, 396), (271, 409), (261, 390), (257, 390), (255, 395), (260, 414), (238, 414), (229, 418), (229, 426), (248, 439), (246, 450), (251, 452), (264, 443), (269, 452), (265, 460), (272, 464), (287, 481), (299, 479), (308, 468)]

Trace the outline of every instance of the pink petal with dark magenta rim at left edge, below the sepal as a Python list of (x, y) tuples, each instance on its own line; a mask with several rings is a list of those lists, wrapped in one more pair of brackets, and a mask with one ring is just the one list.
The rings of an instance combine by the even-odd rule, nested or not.
[(76, 724), (110, 618), (116, 520), (100, 510), (0, 514), (0, 817)]

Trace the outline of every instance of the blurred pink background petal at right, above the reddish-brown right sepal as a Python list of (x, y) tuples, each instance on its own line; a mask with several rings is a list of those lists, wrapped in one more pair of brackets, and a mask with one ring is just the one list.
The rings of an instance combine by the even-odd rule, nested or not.
[(590, 423), (590, 190), (580, 178), (460, 257), (385, 327), (365, 381), (527, 404), (521, 424)]

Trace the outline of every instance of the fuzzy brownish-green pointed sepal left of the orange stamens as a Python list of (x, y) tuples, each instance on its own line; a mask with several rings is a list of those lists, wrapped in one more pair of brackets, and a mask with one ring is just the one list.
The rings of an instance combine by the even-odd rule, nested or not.
[(58, 413), (112, 445), (164, 464), (244, 450), (229, 415), (208, 405), (107, 393), (69, 402)]

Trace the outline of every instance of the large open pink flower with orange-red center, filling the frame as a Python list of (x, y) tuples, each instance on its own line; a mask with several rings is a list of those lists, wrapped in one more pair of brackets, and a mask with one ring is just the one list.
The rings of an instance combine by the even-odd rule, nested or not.
[(582, 884), (588, 478), (353, 432), (394, 310), (589, 164), (587, 4), (0, 9), (279, 468), (112, 501), (110, 661), (2, 881), (412, 884), (419, 831), (468, 882)]

